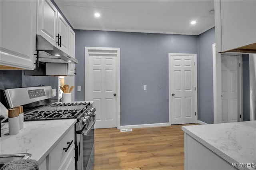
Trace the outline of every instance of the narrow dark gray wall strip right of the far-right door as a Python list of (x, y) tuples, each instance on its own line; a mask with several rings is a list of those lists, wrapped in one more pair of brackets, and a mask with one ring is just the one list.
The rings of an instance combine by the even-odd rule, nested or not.
[(250, 121), (249, 54), (243, 54), (243, 120)]

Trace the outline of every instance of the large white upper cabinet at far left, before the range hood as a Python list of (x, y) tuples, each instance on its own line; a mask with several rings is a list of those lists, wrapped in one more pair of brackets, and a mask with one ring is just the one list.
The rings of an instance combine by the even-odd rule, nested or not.
[(1, 69), (34, 69), (36, 1), (0, 1)]

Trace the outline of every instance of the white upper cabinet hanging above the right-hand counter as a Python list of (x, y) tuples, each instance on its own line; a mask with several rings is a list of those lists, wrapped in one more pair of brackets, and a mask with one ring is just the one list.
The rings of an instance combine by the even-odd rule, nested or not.
[(256, 1), (215, 0), (216, 50), (256, 53)]

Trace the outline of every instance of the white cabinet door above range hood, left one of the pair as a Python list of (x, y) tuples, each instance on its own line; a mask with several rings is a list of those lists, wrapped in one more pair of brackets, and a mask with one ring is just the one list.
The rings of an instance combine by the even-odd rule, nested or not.
[(56, 44), (58, 10), (48, 0), (38, 1), (37, 31), (52, 44)]

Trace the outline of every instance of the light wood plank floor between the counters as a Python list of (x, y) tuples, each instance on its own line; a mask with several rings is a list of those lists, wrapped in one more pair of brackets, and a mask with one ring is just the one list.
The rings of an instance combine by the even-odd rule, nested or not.
[(132, 132), (120, 132), (116, 128), (95, 129), (94, 170), (136, 166), (143, 170), (184, 170), (181, 126), (134, 128)]

